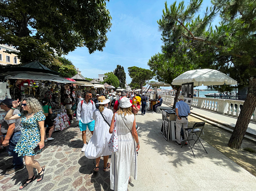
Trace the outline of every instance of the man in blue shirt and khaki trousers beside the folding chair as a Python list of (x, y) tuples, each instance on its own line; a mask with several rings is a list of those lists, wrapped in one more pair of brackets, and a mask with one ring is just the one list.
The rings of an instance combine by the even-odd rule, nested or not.
[[(188, 115), (190, 114), (190, 107), (184, 102), (184, 96), (180, 95), (178, 97), (179, 102), (176, 103), (176, 145), (181, 146), (181, 128), (188, 128)], [(183, 126), (183, 127), (182, 127)], [(187, 139), (187, 134), (184, 133), (185, 140)], [(185, 145), (188, 145), (185, 143)]]

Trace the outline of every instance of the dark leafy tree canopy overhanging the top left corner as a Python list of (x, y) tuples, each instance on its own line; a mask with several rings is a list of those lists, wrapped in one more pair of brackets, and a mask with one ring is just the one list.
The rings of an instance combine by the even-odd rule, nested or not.
[(103, 51), (111, 27), (104, 0), (43, 1), (4, 0), (0, 2), (0, 44), (20, 51), (22, 63), (52, 61), (86, 46), (89, 53)]

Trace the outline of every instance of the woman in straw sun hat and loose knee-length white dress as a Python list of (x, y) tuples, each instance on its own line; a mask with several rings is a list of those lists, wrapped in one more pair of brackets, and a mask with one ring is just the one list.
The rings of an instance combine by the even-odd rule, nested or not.
[[(96, 159), (96, 167), (94, 171), (99, 171), (100, 156), (104, 159), (104, 171), (110, 170), (110, 163), (107, 163), (108, 156), (111, 155), (111, 151), (108, 150), (108, 142), (110, 141), (111, 134), (109, 132), (113, 112), (107, 109), (107, 103), (110, 99), (106, 99), (104, 96), (98, 97), (99, 108), (94, 111), (92, 118), (95, 120), (94, 134), (92, 135), (84, 152), (88, 159)], [(102, 114), (101, 114), (102, 113)], [(103, 116), (102, 116), (103, 115)], [(107, 121), (105, 121), (104, 120)], [(108, 123), (108, 124), (107, 124)]]

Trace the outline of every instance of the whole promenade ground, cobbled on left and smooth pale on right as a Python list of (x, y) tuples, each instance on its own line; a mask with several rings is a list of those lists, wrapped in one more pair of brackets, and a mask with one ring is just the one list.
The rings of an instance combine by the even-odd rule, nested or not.
[[(141, 143), (138, 180), (133, 180), (128, 190), (256, 190), (256, 177), (212, 146), (203, 142), (206, 154), (196, 145), (194, 157), (189, 147), (181, 148), (162, 137), (160, 113), (148, 112), (145, 116), (140, 113), (136, 116)], [(95, 160), (87, 159), (81, 152), (81, 132), (76, 125), (73, 123), (52, 135), (55, 140), (47, 142), (43, 152), (36, 156), (45, 166), (43, 181), (34, 181), (24, 190), (110, 190), (110, 172), (103, 171), (102, 160), (100, 171), (93, 171)], [(4, 169), (9, 164), (11, 158), (1, 152), (1, 191), (18, 190), (21, 182), (27, 179), (27, 170), (4, 177)]]

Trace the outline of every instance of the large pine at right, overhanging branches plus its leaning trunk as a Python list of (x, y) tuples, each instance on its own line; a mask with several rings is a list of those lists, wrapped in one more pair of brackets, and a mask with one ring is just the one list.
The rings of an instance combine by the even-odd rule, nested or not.
[[(193, 65), (197, 63), (201, 68), (222, 71), (237, 80), (239, 86), (249, 85), (246, 101), (229, 141), (230, 147), (239, 148), (256, 106), (256, 1), (212, 2), (213, 6), (206, 8), (202, 18), (195, 15), (199, 13), (203, 0), (191, 0), (187, 8), (184, 1), (169, 7), (165, 3), (162, 18), (158, 21), (164, 42), (162, 52), (175, 61), (181, 55), (188, 55)], [(216, 14), (220, 15), (220, 25), (213, 28), (211, 22)], [(183, 56), (184, 53), (188, 54)]]

